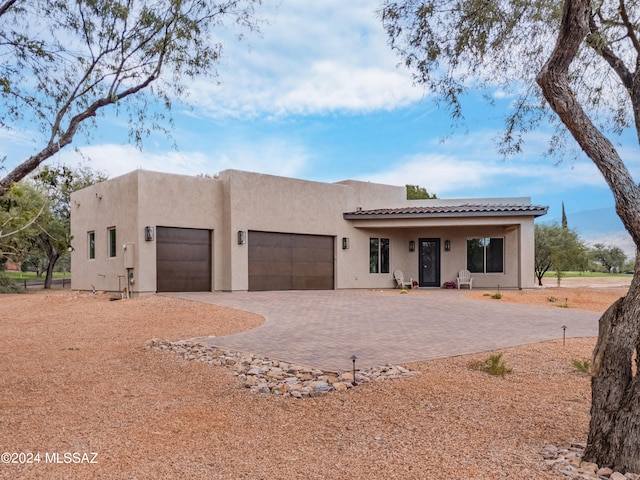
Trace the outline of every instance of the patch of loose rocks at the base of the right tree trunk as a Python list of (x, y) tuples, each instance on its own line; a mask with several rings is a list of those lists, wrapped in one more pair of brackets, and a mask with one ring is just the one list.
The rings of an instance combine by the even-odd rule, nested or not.
[(582, 461), (582, 453), (586, 445), (584, 443), (572, 443), (567, 448), (558, 448), (555, 445), (547, 445), (541, 452), (547, 466), (551, 470), (561, 473), (564, 478), (577, 480), (640, 480), (636, 473), (614, 472), (610, 468), (599, 468), (591, 462)]

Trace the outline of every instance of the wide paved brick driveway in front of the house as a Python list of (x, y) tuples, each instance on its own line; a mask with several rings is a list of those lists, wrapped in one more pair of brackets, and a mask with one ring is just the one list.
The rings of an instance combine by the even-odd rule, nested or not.
[(265, 317), (263, 325), (200, 343), (325, 370), (408, 363), (598, 334), (594, 312), (464, 298), (458, 290), (181, 293)]

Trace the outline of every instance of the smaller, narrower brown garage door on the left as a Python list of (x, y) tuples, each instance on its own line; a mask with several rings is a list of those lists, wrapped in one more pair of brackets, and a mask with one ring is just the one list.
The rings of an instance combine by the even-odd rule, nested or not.
[(156, 228), (158, 292), (211, 291), (211, 231)]

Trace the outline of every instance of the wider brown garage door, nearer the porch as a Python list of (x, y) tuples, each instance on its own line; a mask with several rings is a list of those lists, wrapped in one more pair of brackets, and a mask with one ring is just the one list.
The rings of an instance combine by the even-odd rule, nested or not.
[(332, 290), (334, 238), (249, 232), (249, 290)]

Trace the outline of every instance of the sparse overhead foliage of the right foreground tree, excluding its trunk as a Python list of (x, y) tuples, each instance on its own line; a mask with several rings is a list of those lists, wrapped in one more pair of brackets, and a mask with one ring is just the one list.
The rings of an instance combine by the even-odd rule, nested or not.
[[(626, 2), (623, 2), (626, 3)], [(594, 21), (611, 38), (618, 2), (596, 2)], [(634, 7), (635, 8), (635, 7)], [(562, 18), (562, 2), (553, 0), (386, 0), (379, 15), (391, 47), (424, 86), (455, 119), (463, 120), (463, 99), (480, 90), (513, 97), (505, 118), (499, 149), (521, 151), (526, 134), (548, 122), (560, 124), (549, 110), (536, 78), (551, 54)], [(624, 35), (623, 35), (624, 36)], [(633, 121), (629, 99), (586, 42), (575, 58), (571, 85), (598, 115), (608, 131), (621, 132)], [(553, 129), (549, 153), (567, 148), (565, 129)]]

